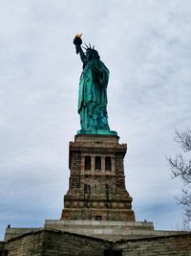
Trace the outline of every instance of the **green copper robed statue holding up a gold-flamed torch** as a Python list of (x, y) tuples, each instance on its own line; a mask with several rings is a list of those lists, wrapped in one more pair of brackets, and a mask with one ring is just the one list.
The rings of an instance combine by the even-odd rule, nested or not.
[(109, 70), (100, 60), (95, 47), (86, 45), (86, 52), (84, 53), (81, 44), (81, 35), (75, 35), (76, 54), (79, 53), (83, 63), (78, 90), (78, 113), (80, 115), (81, 131), (94, 133), (99, 130), (99, 133), (101, 133), (101, 130), (105, 130), (105, 133), (109, 133), (107, 114)]

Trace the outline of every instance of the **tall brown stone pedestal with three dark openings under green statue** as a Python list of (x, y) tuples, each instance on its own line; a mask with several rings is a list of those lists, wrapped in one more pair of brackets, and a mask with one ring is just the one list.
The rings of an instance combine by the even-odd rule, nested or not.
[(117, 135), (75, 135), (70, 142), (69, 191), (61, 220), (135, 221), (125, 188), (126, 144)]

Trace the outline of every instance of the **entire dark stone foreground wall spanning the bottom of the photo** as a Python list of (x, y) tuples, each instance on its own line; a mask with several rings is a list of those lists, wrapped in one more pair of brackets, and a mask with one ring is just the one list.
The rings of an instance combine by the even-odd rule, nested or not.
[(191, 232), (109, 242), (44, 229), (12, 238), (4, 249), (9, 256), (191, 256)]

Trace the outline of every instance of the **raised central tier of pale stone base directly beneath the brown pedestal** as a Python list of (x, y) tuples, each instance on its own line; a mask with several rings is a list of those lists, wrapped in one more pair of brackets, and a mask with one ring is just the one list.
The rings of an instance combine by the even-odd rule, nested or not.
[(140, 221), (45, 221), (45, 228), (117, 241), (154, 235), (153, 222)]

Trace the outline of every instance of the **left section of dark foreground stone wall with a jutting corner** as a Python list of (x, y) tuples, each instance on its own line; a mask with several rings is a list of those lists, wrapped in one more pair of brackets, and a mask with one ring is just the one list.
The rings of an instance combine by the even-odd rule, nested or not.
[(12, 238), (9, 256), (100, 256), (109, 242), (61, 231), (41, 230)]

